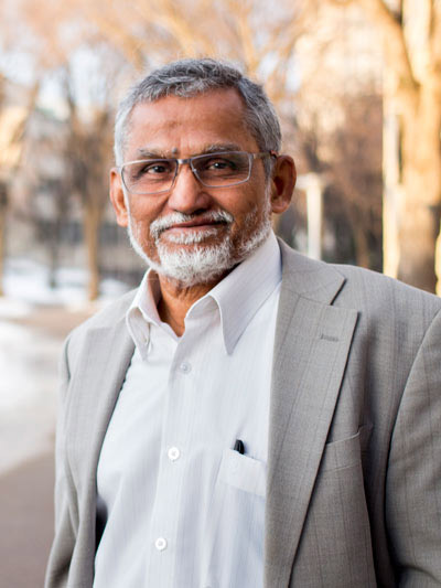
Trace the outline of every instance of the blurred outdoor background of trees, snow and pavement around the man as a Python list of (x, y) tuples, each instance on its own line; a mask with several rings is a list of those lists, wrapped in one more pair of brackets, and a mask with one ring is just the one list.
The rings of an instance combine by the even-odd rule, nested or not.
[(62, 341), (144, 271), (108, 203), (116, 106), (184, 56), (265, 84), (300, 175), (282, 238), (437, 291), (439, 0), (2, 0), (1, 587), (43, 582)]

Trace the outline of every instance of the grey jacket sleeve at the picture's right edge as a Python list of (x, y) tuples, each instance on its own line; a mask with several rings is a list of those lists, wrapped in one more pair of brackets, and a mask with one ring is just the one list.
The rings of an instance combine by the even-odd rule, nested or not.
[(386, 520), (402, 587), (441, 586), (440, 314), (410, 371), (389, 453)]

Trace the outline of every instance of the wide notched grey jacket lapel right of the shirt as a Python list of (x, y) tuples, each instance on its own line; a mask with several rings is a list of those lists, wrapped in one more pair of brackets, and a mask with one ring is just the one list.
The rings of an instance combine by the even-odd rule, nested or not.
[(330, 306), (335, 269), (281, 246), (269, 426), (265, 586), (287, 587), (332, 421), (355, 310)]

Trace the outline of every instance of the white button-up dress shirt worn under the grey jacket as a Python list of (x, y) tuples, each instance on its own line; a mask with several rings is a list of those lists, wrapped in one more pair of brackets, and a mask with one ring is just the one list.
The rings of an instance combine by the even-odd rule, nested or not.
[(147, 272), (128, 311), (136, 351), (98, 463), (107, 524), (95, 588), (262, 586), (280, 281), (271, 233), (191, 307), (178, 338)]

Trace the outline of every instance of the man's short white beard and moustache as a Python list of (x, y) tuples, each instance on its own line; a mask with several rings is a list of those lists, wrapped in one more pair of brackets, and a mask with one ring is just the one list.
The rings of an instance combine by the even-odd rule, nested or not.
[[(256, 211), (250, 212), (244, 225), (256, 222)], [(271, 209), (268, 199), (267, 210), (263, 211), (263, 218), (251, 237), (241, 243), (238, 250), (234, 252), (230, 235), (227, 234), (220, 243), (215, 245), (203, 245), (204, 239), (215, 236), (217, 229), (206, 228), (190, 234), (171, 234), (166, 240), (161, 240), (161, 234), (165, 228), (178, 223), (187, 222), (192, 215), (183, 213), (173, 213), (165, 217), (153, 221), (150, 225), (150, 233), (154, 238), (159, 263), (150, 259), (140, 244), (140, 236), (136, 227), (132, 226), (129, 214), (128, 235), (131, 246), (138, 255), (158, 274), (166, 278), (179, 281), (183, 287), (189, 288), (198, 284), (207, 284), (222, 276), (234, 266), (251, 255), (268, 237), (271, 231)], [(233, 223), (234, 218), (225, 211), (204, 214), (204, 218), (222, 221), (227, 224)], [(172, 248), (169, 244), (191, 245), (192, 248)]]

